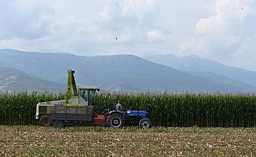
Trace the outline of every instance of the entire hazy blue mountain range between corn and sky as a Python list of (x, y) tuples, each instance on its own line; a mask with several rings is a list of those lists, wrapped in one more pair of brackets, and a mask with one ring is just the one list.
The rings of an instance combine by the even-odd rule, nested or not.
[[(153, 59), (159, 57), (161, 55), (152, 56)], [(133, 55), (85, 57), (69, 53), (0, 49), (0, 90), (64, 91), (67, 86), (68, 69), (73, 69), (78, 86), (100, 86), (101, 91), (104, 92), (254, 93), (256, 91), (255, 82), (252, 81), (255, 80), (254, 71), (231, 68), (196, 56), (189, 56), (187, 58), (191, 59), (188, 60), (186, 57), (175, 59), (175, 56), (163, 55), (162, 62), (152, 58)], [(199, 64), (204, 64), (205, 69), (196, 68), (200, 67)], [(206, 64), (210, 68), (207, 68)], [(211, 71), (213, 68), (215, 71)], [(228, 71), (225, 72), (225, 69)], [(244, 77), (254, 78), (243, 80), (243, 77), (226, 75), (230, 69), (236, 75), (243, 74)]]

